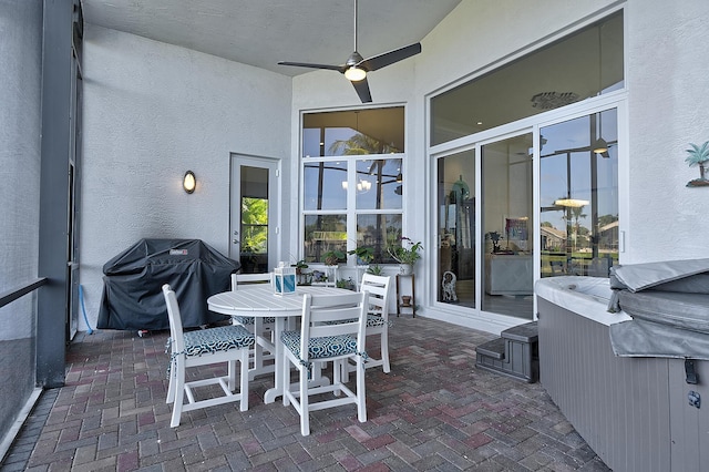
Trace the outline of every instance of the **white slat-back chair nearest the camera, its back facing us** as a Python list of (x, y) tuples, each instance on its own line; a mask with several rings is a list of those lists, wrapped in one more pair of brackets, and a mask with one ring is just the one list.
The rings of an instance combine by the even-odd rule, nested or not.
[[(310, 434), (310, 412), (326, 408), (353, 403), (357, 418), (367, 421), (364, 400), (364, 324), (367, 316), (366, 291), (351, 295), (310, 295), (304, 296), (300, 331), (284, 331), (284, 404), (292, 403), (300, 414), (300, 433)], [(326, 324), (326, 321), (338, 321)], [(354, 361), (356, 391), (350, 390), (341, 378), (345, 363)], [(332, 382), (315, 386), (309, 382), (314, 362), (332, 361)], [(298, 389), (290, 387), (290, 365), (299, 374)], [(311, 397), (332, 393), (329, 399), (311, 401)], [(342, 396), (343, 394), (343, 396)]]

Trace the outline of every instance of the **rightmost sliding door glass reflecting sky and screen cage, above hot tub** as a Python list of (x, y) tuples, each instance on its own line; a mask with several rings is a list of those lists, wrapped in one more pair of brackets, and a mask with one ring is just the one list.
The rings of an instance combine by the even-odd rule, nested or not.
[(616, 110), (541, 133), (542, 277), (608, 277), (618, 260)]

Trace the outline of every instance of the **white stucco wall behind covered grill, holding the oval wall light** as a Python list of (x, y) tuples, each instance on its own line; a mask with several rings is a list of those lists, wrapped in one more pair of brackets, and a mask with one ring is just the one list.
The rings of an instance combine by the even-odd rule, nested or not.
[(289, 158), (291, 81), (91, 24), (83, 78), (81, 284), (95, 327), (102, 267), (138, 239), (196, 238), (228, 254), (229, 154)]

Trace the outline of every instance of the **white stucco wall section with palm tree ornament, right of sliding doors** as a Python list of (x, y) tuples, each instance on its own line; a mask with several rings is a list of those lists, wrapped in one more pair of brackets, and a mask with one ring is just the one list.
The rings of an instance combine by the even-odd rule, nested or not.
[(708, 257), (709, 187), (685, 163), (709, 141), (708, 18), (706, 0), (628, 7), (627, 263)]

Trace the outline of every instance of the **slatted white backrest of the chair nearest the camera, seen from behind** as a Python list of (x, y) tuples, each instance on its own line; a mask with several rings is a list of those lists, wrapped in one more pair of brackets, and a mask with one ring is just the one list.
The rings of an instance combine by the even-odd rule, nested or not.
[(311, 338), (350, 335), (357, 338), (357, 351), (364, 352), (368, 298), (367, 291), (353, 291), (351, 295), (306, 294), (300, 322), (302, 360), (308, 360), (308, 346)]

